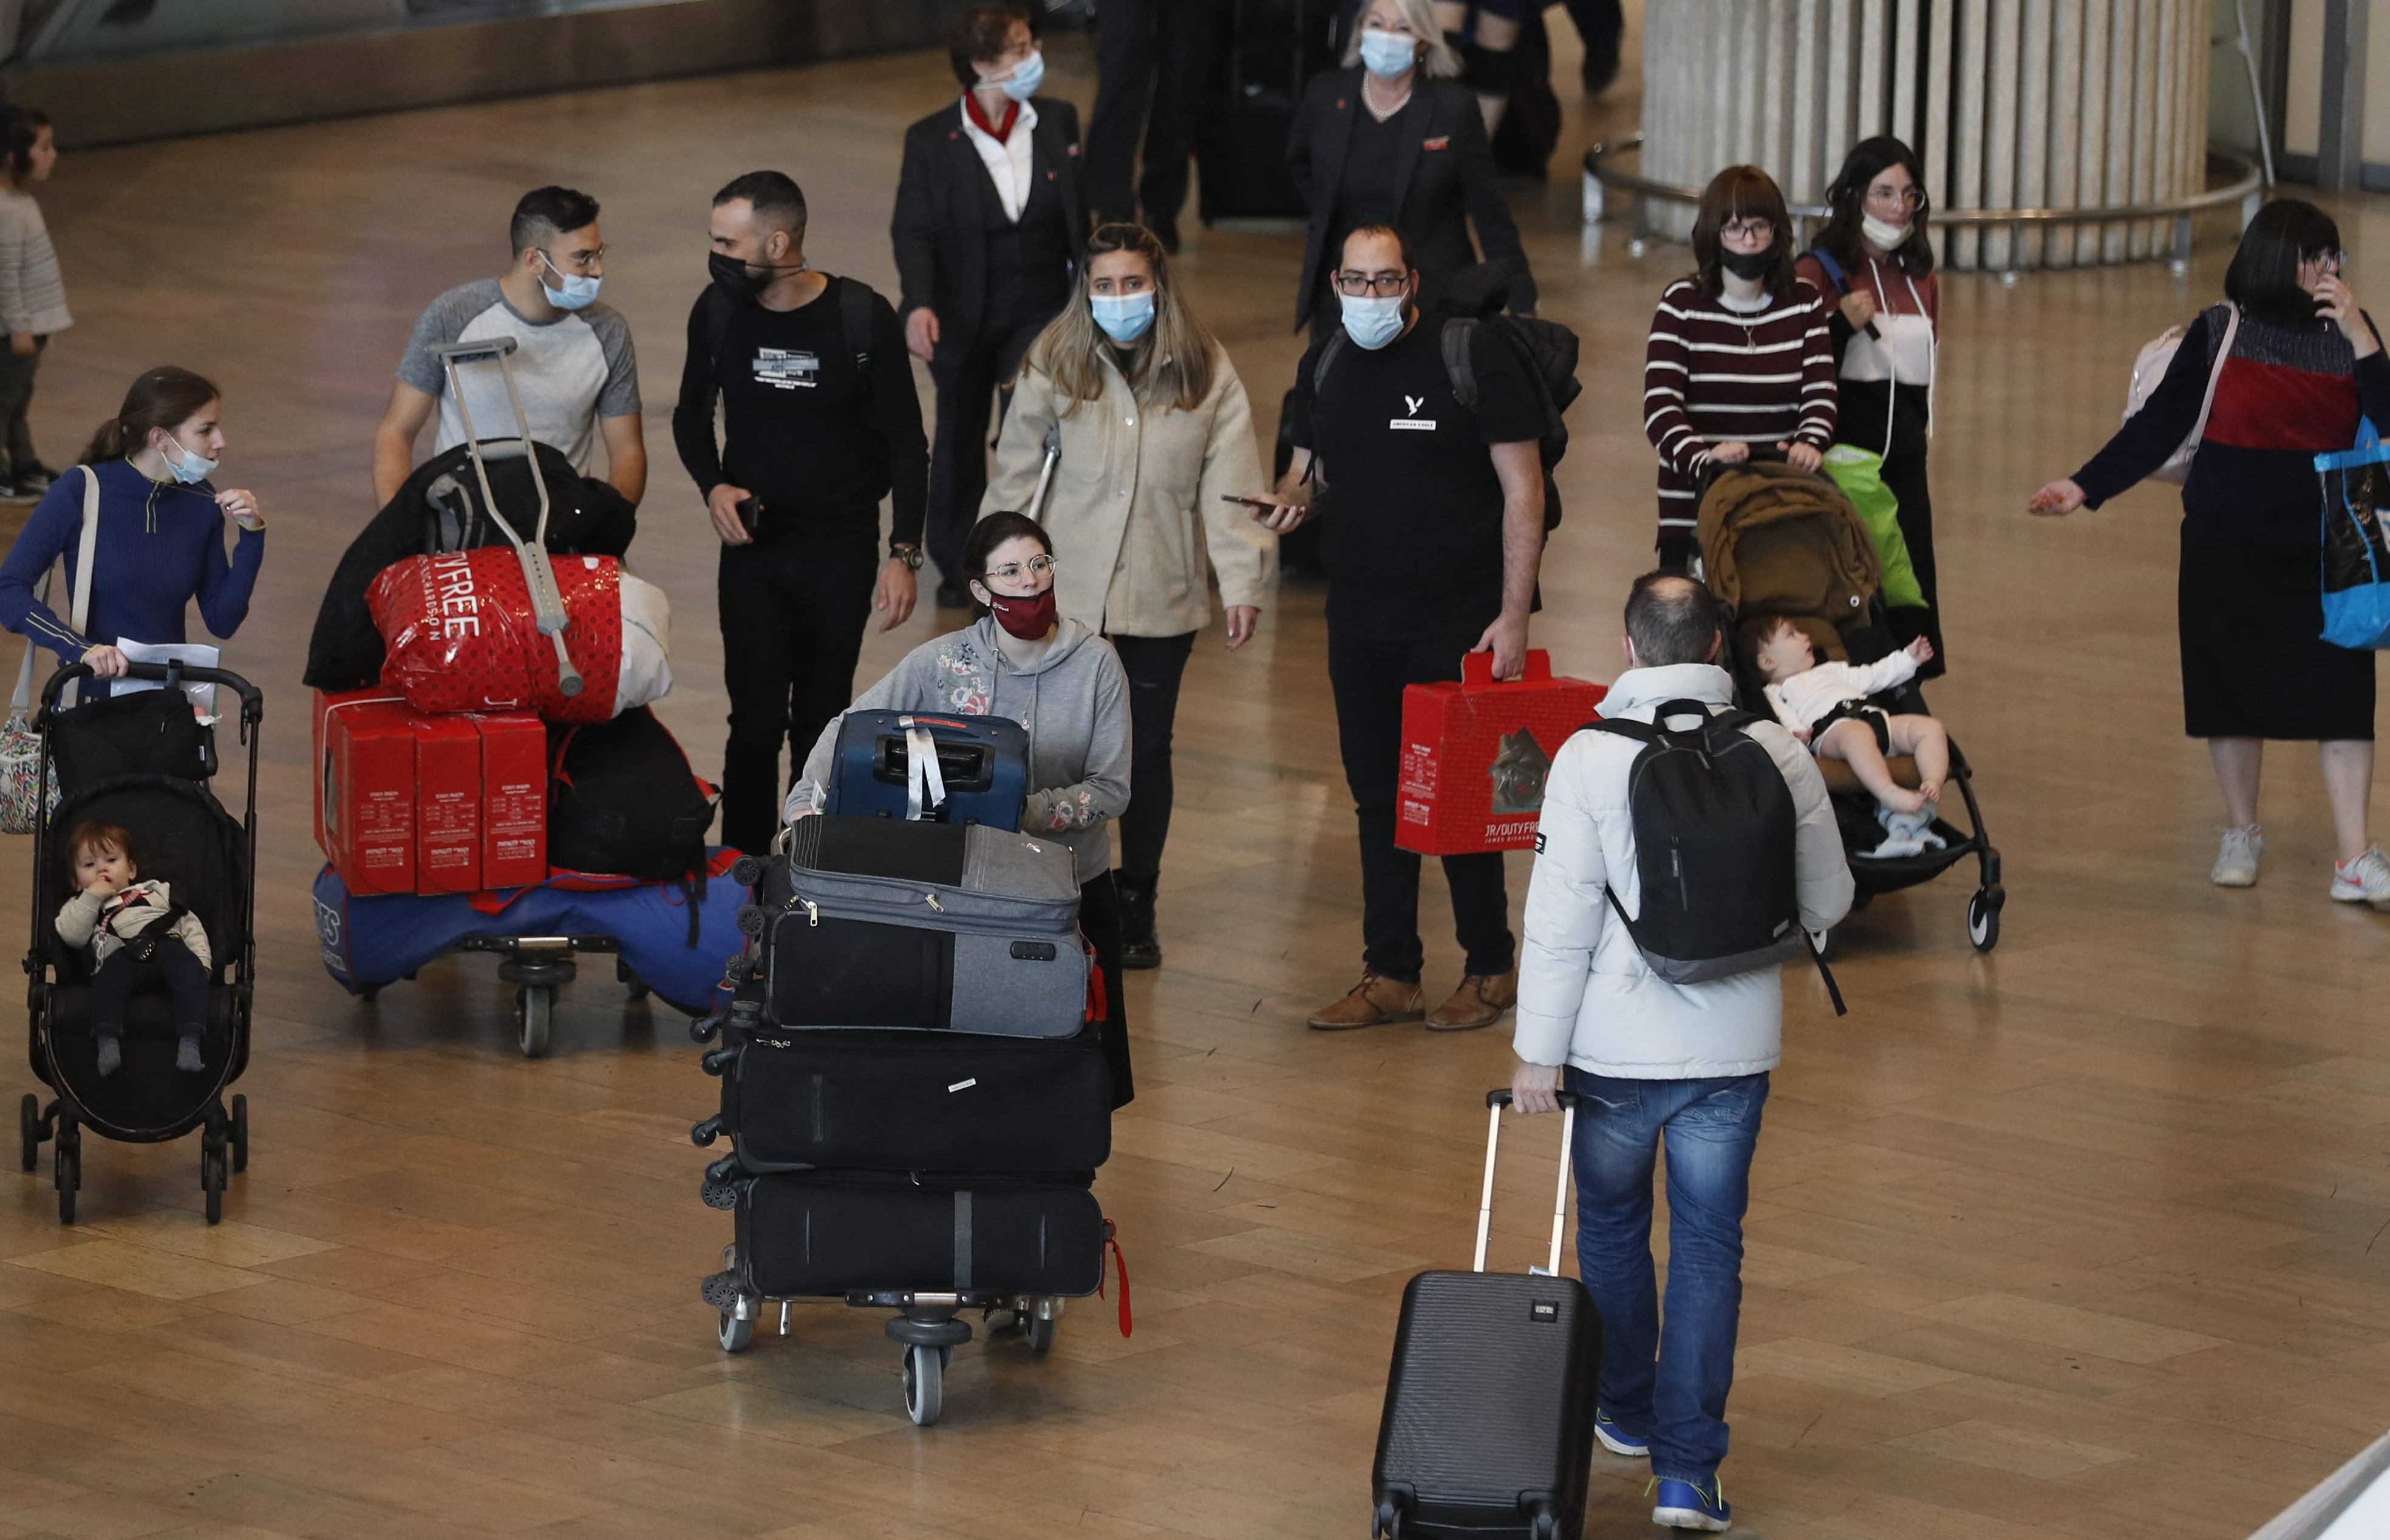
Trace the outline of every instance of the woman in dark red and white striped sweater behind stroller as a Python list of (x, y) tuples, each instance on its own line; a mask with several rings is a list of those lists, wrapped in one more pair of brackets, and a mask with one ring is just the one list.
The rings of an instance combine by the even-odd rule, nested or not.
[(1644, 349), (1644, 433), (1659, 450), (1659, 562), (1692, 567), (1702, 469), (1773, 445), (1814, 471), (1833, 445), (1826, 301), (1792, 273), (1785, 196), (1757, 165), (1702, 191), (1692, 277), (1659, 297)]

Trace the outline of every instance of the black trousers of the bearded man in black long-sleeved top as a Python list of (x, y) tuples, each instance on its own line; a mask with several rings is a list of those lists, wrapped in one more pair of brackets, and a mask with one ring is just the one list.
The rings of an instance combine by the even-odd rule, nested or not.
[(724, 545), (715, 574), (722, 610), (722, 689), (731, 698), (722, 746), (722, 844), (750, 856), (779, 832), (779, 751), (803, 772), (813, 741), (856, 696), (856, 658), (872, 617), (872, 552), (825, 555), (803, 540)]

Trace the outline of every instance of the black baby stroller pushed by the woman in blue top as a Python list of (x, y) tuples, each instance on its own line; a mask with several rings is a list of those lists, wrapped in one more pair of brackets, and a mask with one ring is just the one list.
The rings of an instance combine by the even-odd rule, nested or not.
[[(86, 1126), (122, 1143), (165, 1143), (201, 1129), (198, 1186), (208, 1196), (208, 1224), (215, 1224), (225, 1212), (229, 1174), (249, 1169), (249, 1098), (234, 1095), (227, 1110), (225, 1088), (249, 1067), (256, 980), (256, 729), (265, 715), (265, 696), (222, 670), (136, 662), (129, 670), (134, 679), (153, 679), (165, 689), (103, 696), (60, 710), (60, 691), (88, 674), (81, 662), (53, 674), (33, 720), (41, 729), (41, 770), (55, 775), (57, 806), (45, 808), (33, 830), (33, 940), (24, 957), (31, 980), (26, 1055), (33, 1076), (57, 1098), (43, 1107), (26, 1093), (17, 1110), (24, 1169), (41, 1162), (43, 1141), (55, 1141), (57, 1220), (74, 1224)], [(191, 715), (184, 684), (215, 684), (239, 696), (239, 739), (249, 748), (249, 803), (241, 820), (208, 789), (217, 768), (215, 732)], [(208, 930), (215, 961), (201, 1074), (174, 1069), (167, 1000), (153, 990), (136, 992), (124, 1014), (122, 1067), (105, 1078), (98, 1074), (91, 964), (53, 925), (60, 904), (74, 897), (67, 832), (86, 818), (129, 830), (141, 861), (139, 875), (165, 880), (174, 902)]]

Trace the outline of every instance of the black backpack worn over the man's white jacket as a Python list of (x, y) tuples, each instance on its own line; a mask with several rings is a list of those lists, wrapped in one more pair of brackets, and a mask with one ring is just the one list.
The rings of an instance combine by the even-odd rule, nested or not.
[[(1671, 717), (1699, 717), (1699, 727), (1671, 729)], [(1730, 978), (1807, 954), (1843, 1014), (1843, 992), (1800, 923), (1792, 789), (1776, 756), (1745, 732), (1761, 720), (1668, 701), (1649, 722), (1587, 722), (1644, 746), (1628, 775), (1642, 913), (1630, 916), (1616, 887), (1611, 909), (1668, 983)]]

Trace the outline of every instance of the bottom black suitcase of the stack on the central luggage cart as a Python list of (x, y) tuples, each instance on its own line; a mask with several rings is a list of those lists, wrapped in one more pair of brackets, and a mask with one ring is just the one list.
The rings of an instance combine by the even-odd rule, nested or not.
[(1104, 1212), (1090, 1177), (920, 1184), (903, 1177), (755, 1177), (739, 1196), (748, 1294), (1095, 1294)]

